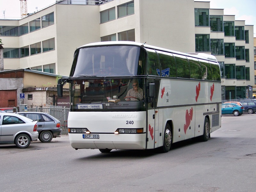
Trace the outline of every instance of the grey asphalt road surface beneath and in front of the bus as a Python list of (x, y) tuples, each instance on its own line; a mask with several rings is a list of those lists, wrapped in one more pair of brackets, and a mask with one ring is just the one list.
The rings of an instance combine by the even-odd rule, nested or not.
[(256, 191), (256, 114), (222, 116), (207, 142), (155, 150), (71, 148), (67, 135), (26, 149), (0, 145), (0, 192)]

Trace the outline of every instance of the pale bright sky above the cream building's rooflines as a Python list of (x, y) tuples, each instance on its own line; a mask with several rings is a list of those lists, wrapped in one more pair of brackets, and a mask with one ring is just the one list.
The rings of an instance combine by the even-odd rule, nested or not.
[[(161, 1), (161, 0), (156, 0)], [(171, 1), (171, 0), (169, 0)], [(224, 9), (225, 15), (235, 15), (235, 20), (245, 20), (245, 25), (254, 25), (256, 37), (256, 0), (198, 0), (210, 1), (210, 8)], [(36, 12), (51, 4), (55, 0), (27, 0), (28, 13)], [(37, 9), (36, 9), (37, 7)], [(0, 0), (0, 19), (20, 19), (19, 0)]]

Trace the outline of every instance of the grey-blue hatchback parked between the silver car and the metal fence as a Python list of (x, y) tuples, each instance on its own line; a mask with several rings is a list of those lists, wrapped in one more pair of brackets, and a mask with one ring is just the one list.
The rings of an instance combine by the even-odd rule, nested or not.
[(52, 138), (61, 135), (60, 121), (47, 113), (19, 112), (18, 114), (37, 121), (37, 131), (39, 132), (38, 139), (41, 142), (50, 142)]

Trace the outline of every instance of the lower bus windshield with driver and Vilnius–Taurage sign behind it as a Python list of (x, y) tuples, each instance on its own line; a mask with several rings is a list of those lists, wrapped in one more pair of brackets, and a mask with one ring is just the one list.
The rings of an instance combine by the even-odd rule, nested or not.
[(145, 111), (144, 79), (69, 81), (71, 111)]

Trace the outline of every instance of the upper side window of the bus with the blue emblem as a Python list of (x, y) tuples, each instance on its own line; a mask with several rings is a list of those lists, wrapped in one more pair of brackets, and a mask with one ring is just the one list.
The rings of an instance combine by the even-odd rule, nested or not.
[(167, 77), (177, 77), (176, 63), (172, 53), (162, 51), (157, 51), (157, 53), (161, 64), (161, 75)]

